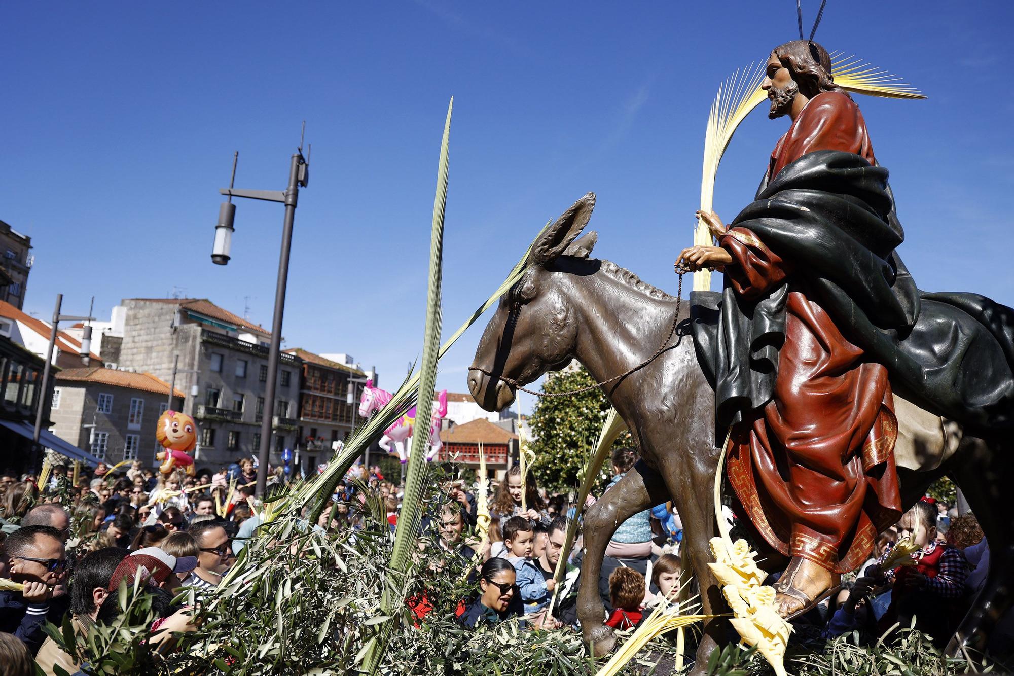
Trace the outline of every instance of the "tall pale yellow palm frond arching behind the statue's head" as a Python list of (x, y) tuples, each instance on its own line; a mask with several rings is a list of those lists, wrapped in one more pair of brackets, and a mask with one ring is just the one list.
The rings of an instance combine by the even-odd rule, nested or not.
[[(704, 141), (704, 172), (701, 180), (701, 209), (710, 211), (715, 197), (715, 177), (725, 149), (732, 141), (746, 116), (768, 98), (760, 88), (765, 77), (766, 63), (751, 64), (742, 71), (722, 82), (718, 94), (711, 105), (708, 128)], [(885, 98), (926, 98), (918, 89), (899, 77), (880, 70), (854, 56), (843, 57), (842, 53), (831, 56), (831, 77), (835, 83), (846, 91)], [(711, 232), (703, 221), (698, 221), (694, 230), (695, 246), (713, 244)], [(711, 288), (711, 272), (701, 270), (694, 273), (694, 290)]]

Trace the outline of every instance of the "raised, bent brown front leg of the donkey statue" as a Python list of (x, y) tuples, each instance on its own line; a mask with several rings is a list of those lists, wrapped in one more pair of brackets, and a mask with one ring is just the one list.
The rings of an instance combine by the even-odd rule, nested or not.
[(596, 656), (606, 655), (615, 646), (612, 629), (605, 626), (605, 608), (598, 596), (598, 578), (602, 556), (609, 538), (638, 512), (669, 499), (665, 483), (657, 472), (638, 462), (602, 498), (588, 508), (584, 516), (584, 558), (577, 593), (577, 616), (581, 620), (584, 643), (591, 644)]

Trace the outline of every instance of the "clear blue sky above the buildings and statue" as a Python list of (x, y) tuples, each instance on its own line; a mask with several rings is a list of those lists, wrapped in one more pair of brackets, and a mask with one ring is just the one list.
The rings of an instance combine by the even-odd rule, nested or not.
[[(807, 24), (815, 0), (804, 2)], [(445, 334), (539, 226), (591, 190), (596, 253), (674, 289), (719, 82), (796, 32), (795, 3), (51, 2), (2, 9), (0, 218), (31, 235), (25, 310), (106, 316), (173, 287), (269, 326), (282, 208), (240, 201), (231, 263), (213, 226), (238, 188), (281, 190), (307, 122), (286, 345), (348, 352), (401, 382), (422, 344), (437, 153), (454, 95)], [(924, 102), (860, 97), (928, 290), (1014, 303), (1014, 9), (830, 0), (817, 40), (902, 75)], [(726, 221), (788, 122), (740, 127), (716, 187)], [(464, 391), (485, 321), (442, 362)], [(528, 402), (523, 402), (525, 408)]]

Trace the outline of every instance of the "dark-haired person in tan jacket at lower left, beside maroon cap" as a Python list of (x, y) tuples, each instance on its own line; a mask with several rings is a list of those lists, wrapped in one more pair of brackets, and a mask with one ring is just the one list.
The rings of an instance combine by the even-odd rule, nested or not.
[[(70, 622), (78, 636), (86, 636), (94, 626), (98, 609), (110, 595), (110, 578), (128, 554), (127, 549), (103, 547), (87, 554), (74, 568), (70, 585)], [(56, 676), (58, 666), (68, 674), (81, 668), (77, 656), (66, 653), (52, 637), (46, 638), (35, 656), (35, 663), (47, 676)]]

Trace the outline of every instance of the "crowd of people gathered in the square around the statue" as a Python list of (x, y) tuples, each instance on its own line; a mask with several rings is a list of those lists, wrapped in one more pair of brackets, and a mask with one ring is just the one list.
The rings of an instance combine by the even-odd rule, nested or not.
[[(614, 451), (608, 486), (637, 461), (631, 449)], [(372, 493), (390, 532), (397, 532), (403, 487), (386, 481), (378, 467), (370, 468), (365, 480), (363, 474), (359, 468), (355, 478), (338, 484), (315, 528), (335, 534), (363, 529)], [(196, 476), (156, 476), (137, 463), (124, 472), (100, 465), (90, 476), (75, 476), (76, 482), (67, 467), (57, 465), (40, 490), (38, 477), (0, 474), (0, 580), (23, 586), (0, 591), (0, 657), (11, 665), (22, 660), (30, 665), (33, 659), (46, 674), (55, 674), (57, 666), (74, 674), (80, 665), (47, 637), (45, 624), (59, 626), (67, 616), (75, 631), (87, 633), (92, 625), (112, 621), (120, 610), (118, 587), (133, 582), (138, 570), (149, 576), (156, 596), (151, 640), (171, 643), (173, 632), (194, 630), (194, 609), (172, 605), (173, 598), (184, 588), (198, 596), (213, 593), (261, 524), (249, 461)], [(439, 506), (424, 516), (421, 531), (468, 571), (472, 591), (457, 603), (458, 622), (477, 627), (517, 618), (542, 629), (579, 628), (580, 530), (568, 560), (560, 559), (568, 526), (581, 519), (593, 497), (573, 504), (565, 494), (541, 490), (531, 476), (523, 481), (513, 467), (495, 483), (488, 537), (480, 541), (474, 537), (480, 510), (472, 486), (448, 479), (435, 492)], [(597, 581), (606, 624), (636, 628), (654, 606), (676, 598), (681, 536), (671, 502), (619, 526)], [(915, 552), (885, 564), (896, 558), (891, 553), (904, 538)], [(988, 565), (989, 546), (974, 516), (927, 497), (878, 538), (870, 559), (847, 576), (838, 594), (799, 621), (828, 638), (851, 631), (875, 638), (915, 618), (918, 628), (942, 645)], [(432, 610), (420, 598), (410, 599), (410, 606), (420, 619)], [(1012, 634), (1002, 622), (991, 648), (1009, 650)]]

